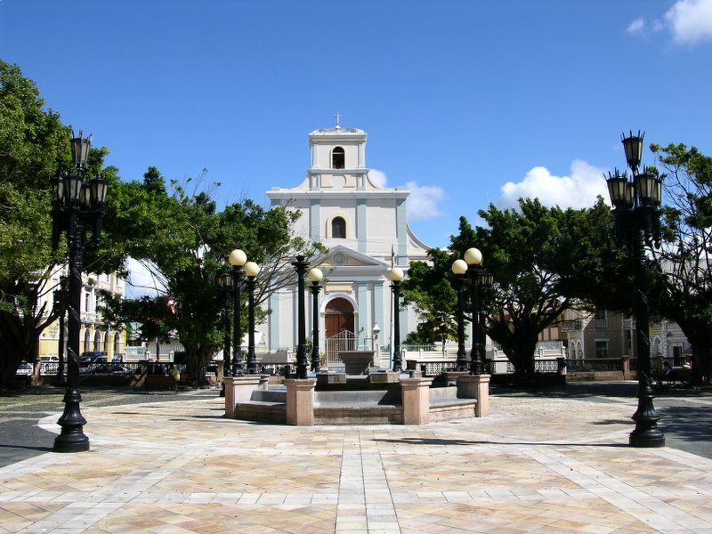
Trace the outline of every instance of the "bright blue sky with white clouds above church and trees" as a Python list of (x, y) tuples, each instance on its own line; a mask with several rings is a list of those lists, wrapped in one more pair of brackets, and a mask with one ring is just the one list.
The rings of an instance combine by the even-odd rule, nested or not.
[(712, 154), (712, 0), (0, 0), (0, 58), (124, 179), (205, 167), (223, 203), (301, 182), (339, 111), (432, 246), (489, 202), (590, 205), (622, 130)]

